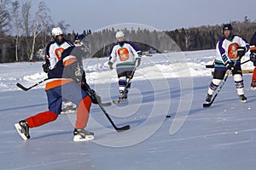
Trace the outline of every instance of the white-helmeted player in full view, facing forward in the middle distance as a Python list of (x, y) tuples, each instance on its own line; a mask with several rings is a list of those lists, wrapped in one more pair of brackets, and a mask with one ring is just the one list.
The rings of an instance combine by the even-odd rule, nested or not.
[(127, 99), (129, 88), (135, 69), (140, 65), (142, 51), (133, 43), (125, 41), (123, 31), (117, 31), (115, 34), (117, 42), (109, 54), (108, 65), (110, 70), (113, 70), (113, 63), (116, 64), (116, 71), (119, 78), (119, 99)]

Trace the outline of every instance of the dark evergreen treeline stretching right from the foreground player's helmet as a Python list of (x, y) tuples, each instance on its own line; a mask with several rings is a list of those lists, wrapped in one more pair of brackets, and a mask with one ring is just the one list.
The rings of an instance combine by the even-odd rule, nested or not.
[[(240, 35), (248, 42), (256, 31), (256, 22), (247, 20), (231, 22), (234, 34)], [(124, 29), (125, 39), (134, 42), (143, 51), (154, 48), (157, 52), (168, 51), (193, 51), (216, 48), (218, 39), (223, 36), (223, 25), (199, 26), (174, 31), (152, 31), (146, 28), (135, 30)], [(115, 42), (114, 29), (102, 30), (92, 33), (87, 37), (90, 44), (90, 54), (94, 57), (107, 56), (113, 42)]]

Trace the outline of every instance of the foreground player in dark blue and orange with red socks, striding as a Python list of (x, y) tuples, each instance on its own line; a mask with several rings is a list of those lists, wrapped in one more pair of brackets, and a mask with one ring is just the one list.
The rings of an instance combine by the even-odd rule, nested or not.
[[(61, 58), (55, 63), (55, 67), (48, 72), (45, 85), (45, 92), (48, 98), (49, 111), (38, 113), (35, 116), (27, 117), (15, 124), (21, 138), (30, 138), (29, 129), (39, 127), (48, 122), (53, 122), (61, 113), (62, 99), (68, 99), (78, 105), (77, 119), (73, 131), (73, 141), (86, 141), (94, 139), (94, 133), (84, 130), (89, 119), (91, 99), (84, 88), (89, 88), (84, 77), (84, 69), (79, 62), (78, 53), (71, 54), (75, 47), (67, 48)], [(81, 88), (80, 84), (86, 84)]]

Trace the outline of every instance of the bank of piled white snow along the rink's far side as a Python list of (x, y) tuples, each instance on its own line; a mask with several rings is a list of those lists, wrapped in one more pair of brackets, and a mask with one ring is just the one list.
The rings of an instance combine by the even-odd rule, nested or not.
[[(193, 52), (175, 52), (169, 54), (154, 54), (143, 56), (142, 64), (137, 68), (137, 77), (143, 78), (143, 74), (149, 73), (150, 78), (172, 77), (201, 77), (211, 76), (212, 69), (206, 68), (211, 65), (215, 58), (215, 50), (202, 50)], [(245, 56), (241, 61), (249, 59)], [(116, 72), (109, 71), (108, 58), (84, 59), (84, 70), (89, 83), (112, 82), (116, 78)], [(20, 62), (0, 64), (0, 92), (17, 89), (16, 83), (29, 87), (40, 82), (47, 75), (42, 69), (41, 62)], [(15, 71), (9, 71), (15, 68)], [(242, 69), (253, 69), (251, 62), (242, 65)], [(38, 86), (37, 88), (44, 88)]]

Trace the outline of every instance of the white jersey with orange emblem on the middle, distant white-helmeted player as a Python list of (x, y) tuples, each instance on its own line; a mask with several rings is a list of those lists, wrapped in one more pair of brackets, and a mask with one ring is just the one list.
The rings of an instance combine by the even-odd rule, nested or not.
[(141, 57), (140, 53), (141, 50), (131, 42), (125, 41), (122, 45), (117, 42), (110, 51), (109, 61), (112, 63), (117, 62), (117, 65), (133, 62), (136, 58)]

